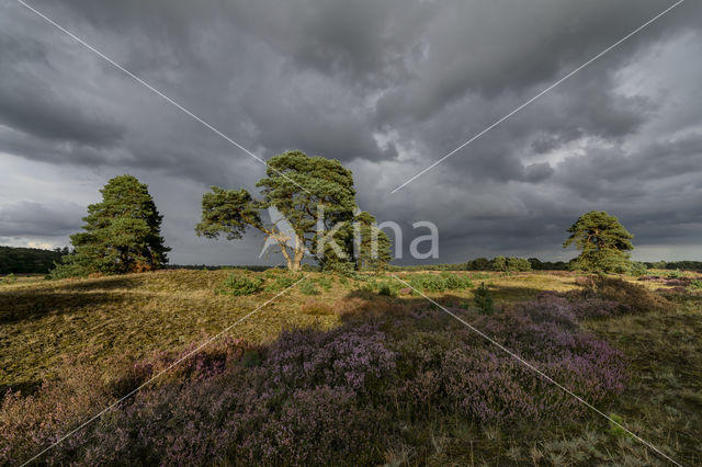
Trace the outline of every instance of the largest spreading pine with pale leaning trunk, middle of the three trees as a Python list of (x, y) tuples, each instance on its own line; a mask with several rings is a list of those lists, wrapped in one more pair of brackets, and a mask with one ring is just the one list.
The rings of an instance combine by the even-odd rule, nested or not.
[[(213, 186), (203, 195), (196, 234), (208, 238), (225, 235), (233, 240), (254, 228), (278, 242), (292, 271), (299, 270), (306, 253), (321, 264), (355, 264), (353, 225), (358, 206), (353, 175), (338, 160), (284, 152), (268, 161), (267, 176), (256, 186), (261, 189), (258, 200), (245, 189)], [(269, 208), (275, 208), (291, 229), (264, 223), (260, 213)], [(387, 240), (387, 236), (384, 238)], [(389, 253), (383, 250), (380, 258), (386, 261)]]

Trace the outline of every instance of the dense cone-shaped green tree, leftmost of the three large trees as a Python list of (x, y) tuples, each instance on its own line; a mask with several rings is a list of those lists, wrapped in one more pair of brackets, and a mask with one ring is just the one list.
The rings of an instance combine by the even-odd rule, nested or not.
[(102, 202), (88, 206), (82, 232), (70, 237), (75, 254), (64, 257), (52, 277), (100, 272), (123, 274), (160, 269), (170, 248), (160, 236), (162, 216), (148, 187), (132, 175), (110, 180)]

